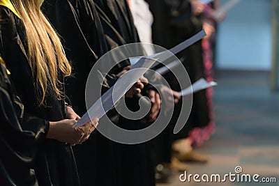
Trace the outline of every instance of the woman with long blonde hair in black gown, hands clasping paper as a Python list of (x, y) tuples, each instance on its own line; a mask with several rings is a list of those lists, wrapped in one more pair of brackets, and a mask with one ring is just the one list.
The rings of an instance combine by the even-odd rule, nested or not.
[(24, 113), (40, 118), (38, 123), (21, 126), (40, 137), (31, 165), (33, 176), (38, 185), (80, 185), (71, 145), (86, 141), (98, 119), (73, 127), (80, 117), (66, 107), (63, 79), (71, 67), (59, 37), (38, 0), (0, 1), (0, 17), (1, 57)]

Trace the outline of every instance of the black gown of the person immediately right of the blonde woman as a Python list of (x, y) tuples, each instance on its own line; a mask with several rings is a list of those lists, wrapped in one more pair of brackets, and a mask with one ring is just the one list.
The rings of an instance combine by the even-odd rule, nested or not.
[[(79, 115), (86, 112), (84, 91), (89, 72), (98, 56), (107, 51), (94, 3), (89, 2), (46, 0), (42, 6), (61, 36), (66, 56), (73, 65), (74, 74), (66, 81), (66, 93)], [(99, 123), (103, 125), (101, 120)], [(94, 130), (89, 140), (74, 147), (74, 152), (81, 185), (116, 185), (113, 141)]]

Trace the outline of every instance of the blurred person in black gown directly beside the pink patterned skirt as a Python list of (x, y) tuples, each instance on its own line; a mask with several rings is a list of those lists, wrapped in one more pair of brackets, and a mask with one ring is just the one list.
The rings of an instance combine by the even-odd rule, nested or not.
[[(201, 13), (204, 10), (204, 4), (198, 0), (164, 0), (164, 1), (151, 1), (148, 0), (151, 12), (154, 15), (153, 24), (153, 42), (156, 45), (161, 45), (166, 48), (174, 47), (183, 40), (190, 38), (195, 33), (203, 29), (203, 21), (201, 19)], [(186, 68), (191, 82), (195, 82), (201, 77), (204, 77), (204, 61), (203, 61), (202, 41), (196, 42), (194, 45), (188, 47), (188, 49), (180, 52), (177, 56), (183, 58), (183, 65)], [(166, 75), (167, 79), (174, 79), (173, 75)], [(171, 84), (175, 91), (179, 91), (179, 86), (174, 82)], [(180, 105), (176, 107), (174, 113), (179, 113)], [(172, 131), (174, 124), (176, 123), (176, 117), (172, 118), (169, 131)], [(177, 146), (165, 146), (162, 145), (160, 152), (165, 156), (158, 157), (158, 162), (171, 162), (172, 148), (174, 148), (176, 157), (179, 160), (185, 159), (184, 156), (188, 155), (189, 148), (192, 149), (191, 143), (188, 140), (184, 140), (189, 136), (190, 130), (194, 127), (204, 127), (209, 124), (209, 111), (206, 101), (206, 91), (199, 91), (193, 95), (193, 107), (188, 118), (186, 125), (181, 132), (173, 135), (169, 131), (165, 131), (165, 139), (172, 139), (173, 141), (179, 140), (179, 148)], [(171, 135), (172, 137), (169, 137)], [(182, 139), (182, 140), (181, 140)], [(162, 143), (166, 144), (166, 143)], [(177, 143), (176, 143), (177, 144)], [(180, 145), (181, 144), (181, 145)], [(160, 147), (160, 146), (158, 146)], [(191, 151), (191, 150), (190, 150)], [(165, 153), (164, 153), (165, 152)], [(175, 157), (175, 160), (176, 160)], [(200, 157), (200, 158), (199, 158)], [(196, 160), (206, 162), (204, 157), (199, 156)], [(174, 160), (174, 159), (173, 159)]]

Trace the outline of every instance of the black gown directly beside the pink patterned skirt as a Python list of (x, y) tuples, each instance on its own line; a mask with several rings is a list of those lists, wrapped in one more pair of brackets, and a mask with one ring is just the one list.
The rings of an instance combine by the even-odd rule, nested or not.
[[(148, 0), (148, 2), (154, 17), (156, 17), (153, 24), (154, 44), (173, 47), (202, 30), (202, 19), (191, 13), (189, 1)], [(162, 27), (165, 29), (162, 29)], [(185, 59), (183, 65), (192, 83), (204, 77), (202, 52), (202, 41), (199, 41), (177, 55), (179, 58), (183, 57)], [(167, 79), (173, 78), (172, 75), (168, 74), (168, 76)], [(172, 84), (172, 86), (175, 90), (178, 90), (176, 84)], [(199, 91), (193, 95), (193, 107), (187, 124), (179, 134), (174, 136), (174, 139), (188, 137), (188, 132), (193, 127), (206, 126), (208, 123), (209, 114), (205, 91)]]

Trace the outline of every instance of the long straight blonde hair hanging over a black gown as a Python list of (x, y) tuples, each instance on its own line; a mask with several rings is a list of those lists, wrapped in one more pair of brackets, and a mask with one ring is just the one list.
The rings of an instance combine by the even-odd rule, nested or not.
[(61, 99), (58, 71), (71, 73), (59, 36), (40, 10), (39, 0), (10, 0), (24, 24), (28, 43), (29, 65), (36, 88), (41, 92), (38, 101), (43, 104), (47, 90)]

